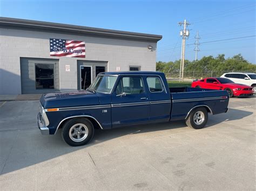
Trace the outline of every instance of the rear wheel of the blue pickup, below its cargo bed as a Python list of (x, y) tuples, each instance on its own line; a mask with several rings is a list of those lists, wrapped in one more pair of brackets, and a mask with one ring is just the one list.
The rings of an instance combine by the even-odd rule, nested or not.
[(196, 108), (186, 118), (187, 126), (193, 129), (202, 129), (208, 121), (208, 112), (204, 107)]

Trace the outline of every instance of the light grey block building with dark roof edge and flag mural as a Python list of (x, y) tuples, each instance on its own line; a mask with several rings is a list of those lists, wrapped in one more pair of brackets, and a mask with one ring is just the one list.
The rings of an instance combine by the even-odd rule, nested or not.
[[(0, 95), (84, 89), (100, 72), (154, 71), (161, 38), (0, 17)], [(55, 42), (58, 46), (53, 47)], [(63, 48), (67, 45), (72, 49)], [(56, 54), (65, 56), (52, 56)]]

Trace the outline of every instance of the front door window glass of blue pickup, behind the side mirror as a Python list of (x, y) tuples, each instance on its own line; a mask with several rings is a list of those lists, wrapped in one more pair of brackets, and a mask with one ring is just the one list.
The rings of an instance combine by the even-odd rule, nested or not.
[(117, 85), (116, 94), (142, 94), (144, 87), (141, 77), (122, 77)]

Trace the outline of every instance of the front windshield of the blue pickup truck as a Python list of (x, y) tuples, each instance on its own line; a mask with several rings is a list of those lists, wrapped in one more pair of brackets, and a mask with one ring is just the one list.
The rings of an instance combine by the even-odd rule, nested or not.
[(109, 94), (116, 80), (117, 76), (98, 75), (88, 90)]

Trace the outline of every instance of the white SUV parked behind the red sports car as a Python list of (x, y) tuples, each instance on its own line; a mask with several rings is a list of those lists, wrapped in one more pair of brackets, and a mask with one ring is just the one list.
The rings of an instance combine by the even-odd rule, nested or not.
[(245, 84), (253, 88), (254, 94), (256, 94), (256, 74), (246, 72), (231, 72), (225, 73), (220, 77), (226, 77), (235, 83)]

